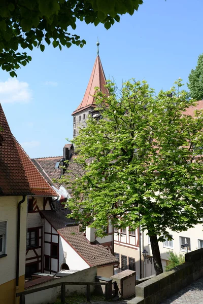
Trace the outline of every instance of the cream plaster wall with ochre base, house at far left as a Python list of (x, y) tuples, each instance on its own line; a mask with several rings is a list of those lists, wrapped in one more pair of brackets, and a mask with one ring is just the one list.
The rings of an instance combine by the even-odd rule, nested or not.
[[(7, 221), (6, 254), (0, 258), (0, 303), (13, 304), (15, 299), (17, 207), (22, 196), (0, 197), (0, 221)], [(26, 252), (27, 198), (21, 204), (20, 220), (20, 263), (21, 290), (24, 288)]]

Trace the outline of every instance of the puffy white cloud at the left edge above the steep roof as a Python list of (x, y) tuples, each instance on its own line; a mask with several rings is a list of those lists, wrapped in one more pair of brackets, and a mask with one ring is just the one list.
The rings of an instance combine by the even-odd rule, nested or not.
[(1, 103), (28, 103), (32, 99), (32, 92), (26, 82), (20, 82), (16, 78), (9, 78), (0, 82)]

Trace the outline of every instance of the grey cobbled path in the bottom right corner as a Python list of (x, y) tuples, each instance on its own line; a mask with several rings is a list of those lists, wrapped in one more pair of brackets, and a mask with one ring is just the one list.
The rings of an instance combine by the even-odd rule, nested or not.
[(187, 285), (161, 304), (203, 304), (203, 278)]

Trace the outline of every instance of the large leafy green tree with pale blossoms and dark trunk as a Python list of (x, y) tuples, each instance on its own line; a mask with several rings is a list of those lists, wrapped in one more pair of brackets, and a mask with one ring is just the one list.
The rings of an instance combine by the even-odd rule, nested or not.
[(62, 179), (72, 188), (70, 216), (98, 236), (109, 221), (148, 231), (156, 274), (162, 272), (158, 241), (170, 238), (169, 229), (203, 221), (203, 113), (186, 115), (195, 103), (180, 91), (180, 80), (176, 86), (157, 97), (145, 81), (126, 82), (120, 96), (112, 83), (108, 98), (97, 91), (102, 118), (89, 117), (73, 140), (84, 171)]

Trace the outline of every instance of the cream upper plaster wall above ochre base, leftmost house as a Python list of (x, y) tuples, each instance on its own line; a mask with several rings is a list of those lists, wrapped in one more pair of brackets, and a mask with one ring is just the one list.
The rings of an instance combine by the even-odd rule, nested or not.
[[(15, 279), (16, 240), (17, 240), (17, 206), (22, 196), (0, 197), (0, 221), (7, 221), (7, 256), (0, 258), (0, 285)], [(20, 267), (19, 276), (25, 274), (27, 199), (21, 204), (20, 224)]]

